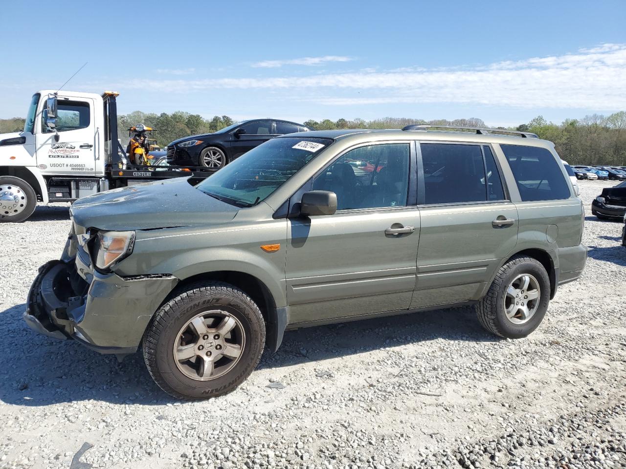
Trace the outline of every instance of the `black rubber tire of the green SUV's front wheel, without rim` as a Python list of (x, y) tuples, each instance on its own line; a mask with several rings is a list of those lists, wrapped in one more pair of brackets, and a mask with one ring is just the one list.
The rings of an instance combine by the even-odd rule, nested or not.
[[(245, 337), (241, 355), (222, 376), (200, 381), (189, 378), (177, 365), (175, 341), (187, 321), (198, 313), (227, 311), (242, 326)], [(143, 358), (150, 376), (175, 398), (198, 400), (224, 395), (242, 383), (259, 363), (265, 346), (265, 322), (259, 307), (242, 290), (228, 283), (203, 282), (189, 286), (158, 311), (143, 336)]]

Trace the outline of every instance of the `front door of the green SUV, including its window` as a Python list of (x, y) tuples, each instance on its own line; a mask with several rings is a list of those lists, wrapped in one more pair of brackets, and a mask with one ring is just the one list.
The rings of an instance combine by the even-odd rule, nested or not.
[(337, 212), (289, 219), (290, 322), (406, 310), (415, 286), (419, 211), (410, 143), (369, 144), (312, 181)]

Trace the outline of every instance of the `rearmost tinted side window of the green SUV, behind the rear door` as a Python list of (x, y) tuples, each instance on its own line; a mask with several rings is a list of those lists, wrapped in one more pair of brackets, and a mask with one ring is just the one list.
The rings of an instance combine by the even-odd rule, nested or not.
[(552, 153), (545, 148), (500, 145), (523, 201), (567, 199), (570, 188)]

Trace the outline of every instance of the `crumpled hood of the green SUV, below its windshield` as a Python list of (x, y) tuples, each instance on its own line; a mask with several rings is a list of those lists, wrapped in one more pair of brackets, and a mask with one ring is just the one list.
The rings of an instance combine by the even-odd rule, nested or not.
[(199, 191), (187, 179), (93, 194), (74, 202), (70, 212), (80, 226), (115, 231), (220, 224), (235, 217), (239, 208)]

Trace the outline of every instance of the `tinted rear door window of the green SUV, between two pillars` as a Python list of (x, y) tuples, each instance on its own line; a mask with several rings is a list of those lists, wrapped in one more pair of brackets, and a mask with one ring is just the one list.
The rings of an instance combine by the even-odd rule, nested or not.
[(426, 204), (505, 199), (500, 173), (488, 146), (423, 143), (420, 148)]

